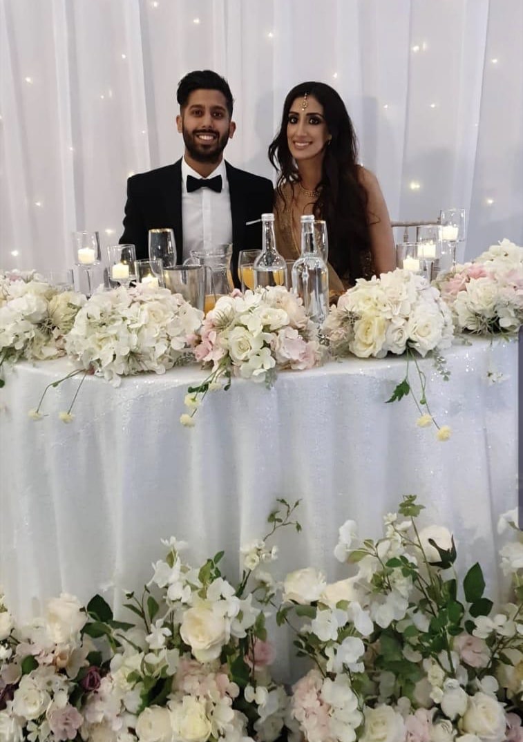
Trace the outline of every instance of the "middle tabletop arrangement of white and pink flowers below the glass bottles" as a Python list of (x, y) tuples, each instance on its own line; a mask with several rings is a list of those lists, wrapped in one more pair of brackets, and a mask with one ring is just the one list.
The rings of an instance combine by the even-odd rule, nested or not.
[(231, 376), (271, 387), (277, 370), (310, 369), (322, 358), (318, 327), (297, 295), (283, 286), (220, 297), (194, 340), (194, 355), (211, 373), (188, 390), (190, 412), (180, 418), (187, 426), (194, 425), (206, 393), (223, 382), (227, 389)]

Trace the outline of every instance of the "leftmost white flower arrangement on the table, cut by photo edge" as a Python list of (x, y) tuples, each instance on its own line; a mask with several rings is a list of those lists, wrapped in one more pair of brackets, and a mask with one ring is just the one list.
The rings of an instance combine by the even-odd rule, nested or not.
[(0, 272), (0, 387), (4, 363), (65, 355), (65, 335), (85, 296), (60, 291), (35, 271)]

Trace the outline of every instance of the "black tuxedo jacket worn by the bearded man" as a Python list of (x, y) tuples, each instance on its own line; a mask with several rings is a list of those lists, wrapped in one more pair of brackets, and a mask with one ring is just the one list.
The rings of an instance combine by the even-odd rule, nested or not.
[[(231, 197), (233, 275), (237, 282), (238, 252), (261, 249), (261, 224), (247, 224), (272, 211), (273, 189), (268, 178), (233, 168), (226, 162)], [(177, 263), (182, 263), (182, 160), (174, 165), (133, 175), (127, 182), (124, 231), (120, 243), (136, 246), (138, 259), (148, 258), (148, 231), (171, 227)]]

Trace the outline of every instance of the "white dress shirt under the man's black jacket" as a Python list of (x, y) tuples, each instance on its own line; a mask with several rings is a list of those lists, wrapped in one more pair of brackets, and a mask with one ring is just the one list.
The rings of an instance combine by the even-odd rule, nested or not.
[[(222, 160), (208, 178), (222, 176), (220, 193), (211, 188), (199, 188), (187, 192), (187, 176), (202, 177), (194, 171), (185, 157), (182, 159), (182, 225), (183, 260), (191, 255), (191, 250), (204, 252), (213, 246), (232, 242), (231, 197), (228, 190), (226, 163)], [(206, 179), (205, 179), (206, 180)]]

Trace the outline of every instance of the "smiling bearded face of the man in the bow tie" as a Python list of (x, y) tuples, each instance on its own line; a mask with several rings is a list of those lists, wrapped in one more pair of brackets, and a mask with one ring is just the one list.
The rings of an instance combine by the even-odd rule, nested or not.
[(176, 122), (187, 153), (197, 162), (220, 162), (236, 129), (226, 97), (214, 90), (193, 91)]

